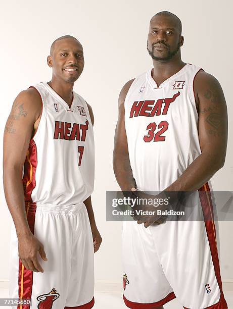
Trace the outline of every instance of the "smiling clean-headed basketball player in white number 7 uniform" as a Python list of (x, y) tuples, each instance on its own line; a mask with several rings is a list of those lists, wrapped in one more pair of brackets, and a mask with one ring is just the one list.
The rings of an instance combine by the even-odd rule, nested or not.
[(19, 93), (4, 135), (4, 188), (15, 224), (10, 297), (31, 298), (32, 309), (88, 309), (102, 238), (90, 197), (94, 116), (73, 91), (82, 45), (70, 35), (56, 39), (48, 65), (51, 81)]

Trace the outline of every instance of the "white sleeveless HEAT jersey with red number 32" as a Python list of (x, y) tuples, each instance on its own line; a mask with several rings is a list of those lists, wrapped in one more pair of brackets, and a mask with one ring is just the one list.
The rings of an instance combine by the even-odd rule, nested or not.
[(193, 90), (201, 68), (187, 64), (159, 87), (152, 70), (135, 78), (125, 98), (129, 159), (137, 188), (161, 191), (200, 155)]

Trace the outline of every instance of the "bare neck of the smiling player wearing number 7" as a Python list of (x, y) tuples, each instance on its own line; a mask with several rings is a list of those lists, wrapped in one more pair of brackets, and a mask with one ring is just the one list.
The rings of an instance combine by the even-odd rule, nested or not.
[(69, 107), (71, 107), (72, 100), (73, 100), (73, 87), (74, 83), (59, 81), (58, 79), (52, 77), (52, 80), (48, 82), (51, 88), (54, 89), (55, 92), (63, 100), (68, 104)]

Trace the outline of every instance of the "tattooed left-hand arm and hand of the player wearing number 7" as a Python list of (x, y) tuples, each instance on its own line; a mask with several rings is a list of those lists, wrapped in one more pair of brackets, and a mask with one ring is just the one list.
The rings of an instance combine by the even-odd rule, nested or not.
[[(4, 191), (19, 241), (19, 257), (33, 271), (43, 271), (37, 261), (37, 251), (45, 257), (42, 244), (28, 226), (22, 171), (31, 137), (41, 114), (41, 99), (34, 88), (20, 92), (8, 117), (4, 132)], [(45, 258), (46, 259), (46, 258)], [(44, 260), (45, 261), (45, 260)]]

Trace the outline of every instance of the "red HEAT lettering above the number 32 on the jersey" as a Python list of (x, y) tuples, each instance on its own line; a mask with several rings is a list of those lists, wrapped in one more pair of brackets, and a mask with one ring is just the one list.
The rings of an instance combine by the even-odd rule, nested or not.
[(173, 95), (173, 97), (166, 97), (164, 99), (160, 98), (156, 101), (156, 103), (155, 100), (135, 101), (132, 105), (129, 118), (138, 116), (154, 117), (167, 115), (170, 104), (174, 102), (179, 95), (180, 92), (178, 91)]

